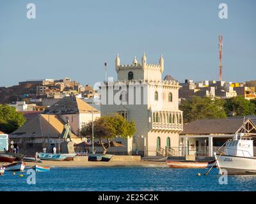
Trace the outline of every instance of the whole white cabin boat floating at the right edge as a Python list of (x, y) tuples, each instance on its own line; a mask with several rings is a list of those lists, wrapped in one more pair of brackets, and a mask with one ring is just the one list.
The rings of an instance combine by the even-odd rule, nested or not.
[(247, 133), (237, 133), (225, 144), (225, 152), (215, 153), (220, 174), (256, 174), (256, 157), (253, 157), (253, 140)]

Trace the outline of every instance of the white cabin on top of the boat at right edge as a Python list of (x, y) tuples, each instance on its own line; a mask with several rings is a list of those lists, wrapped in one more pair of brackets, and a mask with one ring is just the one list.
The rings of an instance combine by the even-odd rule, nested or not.
[(230, 156), (253, 157), (253, 140), (244, 133), (237, 133), (226, 143), (225, 152)]

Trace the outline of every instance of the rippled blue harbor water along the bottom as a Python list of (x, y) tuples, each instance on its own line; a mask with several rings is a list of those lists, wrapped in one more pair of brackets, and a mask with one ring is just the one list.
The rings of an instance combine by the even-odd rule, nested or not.
[[(256, 175), (228, 176), (220, 185), (218, 169), (171, 168), (51, 168), (36, 173), (36, 184), (29, 185), (20, 172), (5, 171), (0, 191), (256, 191)], [(201, 176), (196, 176), (201, 173)]]

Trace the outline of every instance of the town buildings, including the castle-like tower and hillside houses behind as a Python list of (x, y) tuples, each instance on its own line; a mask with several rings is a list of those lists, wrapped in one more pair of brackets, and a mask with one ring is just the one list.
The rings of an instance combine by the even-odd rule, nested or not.
[[(25, 119), (8, 134), (3, 133), (6, 129), (0, 126), (1, 138), (6, 138), (1, 151), (19, 147), (20, 152), (26, 154), (42, 152), (43, 149), (51, 153), (55, 147), (57, 152), (61, 152), (61, 143), (64, 141), (61, 135), (65, 124), (71, 128), (72, 141), (79, 144), (88, 140), (82, 130), (92, 119), (115, 113), (127, 121), (134, 121), (136, 127), (130, 138), (113, 139), (119, 146), (109, 147), (108, 152), (116, 155), (184, 156), (190, 151), (196, 156), (212, 157), (214, 148), (223, 145), (225, 140), (239, 131), (245, 121), (250, 123), (248, 131), (255, 129), (255, 112), (246, 115), (227, 113), (224, 117), (200, 116), (188, 120), (188, 113), (182, 107), (194, 97), (217, 101), (240, 96), (246, 101), (254, 101), (256, 80), (243, 83), (186, 80), (185, 83), (179, 83), (171, 75), (162, 77), (163, 56), (159, 64), (148, 63), (145, 53), (141, 62), (136, 57), (132, 64), (121, 64), (120, 61), (120, 56), (116, 55), (117, 80), (102, 82), (100, 91), (70, 78), (27, 80), (13, 87), (1, 87), (1, 103), (15, 108)], [(119, 85), (120, 82), (123, 84)], [(111, 103), (109, 98), (106, 103), (93, 104), (95, 98), (107, 98), (111, 83), (123, 89), (129, 87), (131, 82), (139, 82), (143, 90), (141, 94), (145, 94), (146, 101), (141, 99), (143, 103), (129, 105), (131, 90), (124, 89), (113, 92), (113, 96), (120, 95), (118, 104)], [(140, 92), (137, 92), (136, 89), (134, 96), (140, 96)], [(234, 128), (225, 129), (225, 123), (234, 123)], [(221, 128), (220, 124), (224, 127)], [(100, 145), (95, 150), (102, 152)], [(76, 152), (79, 151), (81, 148), (77, 147)], [(88, 147), (88, 152), (92, 151), (92, 147)]]

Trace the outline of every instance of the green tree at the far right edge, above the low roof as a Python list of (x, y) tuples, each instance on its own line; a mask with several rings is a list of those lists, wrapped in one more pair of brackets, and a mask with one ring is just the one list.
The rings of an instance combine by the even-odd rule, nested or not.
[(230, 116), (245, 116), (255, 113), (255, 104), (246, 100), (243, 96), (225, 99), (224, 109)]

